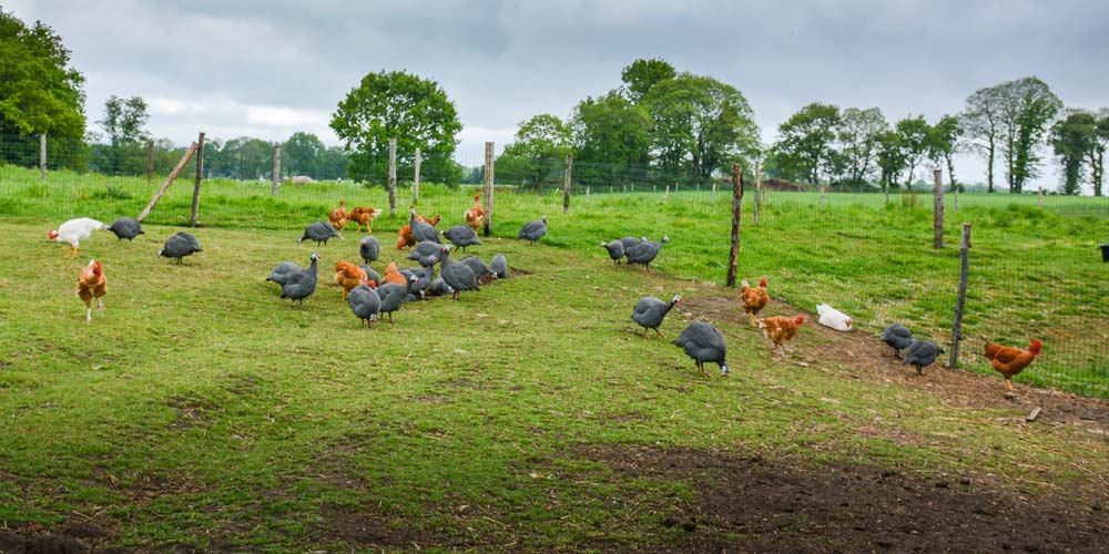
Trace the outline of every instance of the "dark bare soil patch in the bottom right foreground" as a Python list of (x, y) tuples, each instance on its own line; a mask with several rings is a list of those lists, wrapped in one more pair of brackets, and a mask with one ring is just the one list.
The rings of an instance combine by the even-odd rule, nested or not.
[(1109, 541), (1109, 510), (1098, 501), (1031, 496), (969, 476), (649, 445), (576, 454), (623, 479), (694, 486), (692, 501), (644, 506), (660, 531), (678, 532), (670, 544), (637, 548), (645, 552), (1103, 552)]

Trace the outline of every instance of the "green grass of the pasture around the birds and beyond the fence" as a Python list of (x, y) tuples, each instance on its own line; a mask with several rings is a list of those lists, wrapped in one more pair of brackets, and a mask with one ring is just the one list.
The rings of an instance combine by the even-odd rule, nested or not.
[[(0, 521), (49, 526), (95, 514), (144, 550), (285, 552), (348, 550), (321, 530), (336, 511), (357, 510), (491, 551), (513, 540), (521, 550), (577, 550), (597, 544), (596, 530), (620, 550), (665, 543), (641, 507), (694, 493), (684, 481), (617, 475), (578, 453), (582, 444), (993, 473), (1028, 486), (1082, 482), (1109, 458), (1082, 429), (1010, 424), (1017, 410), (960, 409), (798, 370), (771, 359), (746, 327), (719, 324), (732, 380), (701, 379), (675, 347), (630, 334), (639, 297), (695, 296), (705, 289), (688, 279), (722, 279), (723, 195), (593, 194), (576, 197), (569, 215), (556, 208), (560, 197), (498, 195), (494, 222), (505, 235), (542, 212), (551, 220), (548, 246), (490, 238), (478, 249), (486, 259), (503, 252), (526, 275), (458, 302), (407, 305), (395, 325), (367, 331), (337, 288), (321, 286), (293, 310), (263, 279), (277, 261), (303, 265), (318, 250), (326, 283), (336, 259), (355, 258), (354, 234), (316, 248), (295, 243), (299, 229), (339, 197), (380, 206), (381, 191), (286, 187), (273, 201), (267, 186), (248, 195), (254, 184), (213, 183), (201, 202), (207, 227), (194, 232), (204, 252), (174, 266), (154, 253), (180, 230), (166, 224), (187, 217), (185, 187), (171, 189), (146, 235), (116, 243), (98, 234), (74, 260), (45, 230), (75, 215), (134, 215), (146, 185), (74, 176), (42, 186), (0, 172)], [(116, 192), (98, 195), (109, 185)], [(741, 275), (769, 275), (776, 298), (801, 306), (843, 307), (865, 332), (893, 318), (943, 329), (957, 255), (929, 249), (926, 211), (785, 198), (772, 195), (759, 227), (745, 216)], [(468, 201), (431, 187), (420, 204), (450, 224)], [(1105, 371), (1095, 334), (1107, 328), (1106, 266), (1087, 248), (1105, 220), (1020, 206), (959, 215), (976, 223), (981, 260), (968, 335), (1044, 338), (1046, 353), (1024, 382), (1067, 382), (1077, 371), (1055, 361), (1065, 348), (1091, 360), (1074, 367)], [(401, 223), (375, 224), (383, 246)], [(597, 246), (661, 233), (672, 242), (655, 274), (613, 269)], [(384, 250), (375, 267), (399, 261)], [(103, 260), (110, 291), (106, 311), (85, 325), (73, 287), (90, 257)], [(681, 319), (671, 316), (665, 332), (675, 336)], [(1068, 384), (1105, 394), (1103, 378)], [(877, 432), (858, 433), (863, 425)], [(597, 501), (613, 496), (627, 503)]]

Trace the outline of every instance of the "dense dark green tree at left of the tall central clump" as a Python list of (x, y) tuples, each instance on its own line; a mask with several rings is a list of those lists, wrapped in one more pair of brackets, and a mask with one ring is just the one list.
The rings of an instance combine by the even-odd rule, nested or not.
[(615, 91), (587, 98), (570, 115), (574, 177), (582, 184), (620, 184), (644, 172), (651, 161), (650, 111)]

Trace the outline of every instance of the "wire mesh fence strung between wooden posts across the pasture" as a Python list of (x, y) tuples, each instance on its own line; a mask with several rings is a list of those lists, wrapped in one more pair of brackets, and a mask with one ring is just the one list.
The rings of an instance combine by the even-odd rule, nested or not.
[[(29, 154), (38, 147), (37, 140), (0, 142), (0, 157), (7, 162), (0, 166), (0, 216), (54, 223), (85, 216), (133, 217), (172, 167), (157, 165), (152, 179), (141, 172), (104, 174), (92, 171), (99, 167), (92, 163), (95, 156), (81, 157), (85, 154), (74, 146), (67, 151), (60, 145), (43, 178), (37, 156)], [(172, 154), (164, 157), (180, 158), (183, 150), (167, 148)], [(272, 172), (272, 151), (269, 156)], [(89, 165), (81, 166), (82, 160)], [(299, 230), (326, 217), (344, 199), (348, 206), (385, 209), (374, 229), (389, 236), (407, 223), (407, 207), (415, 201), (420, 213), (440, 214), (441, 225), (455, 225), (462, 223), (472, 196), (484, 194), (485, 177), (482, 163), (476, 160), (455, 163), (461, 168), (458, 182), (425, 181), (418, 201), (413, 198), (414, 175), (398, 170), (398, 201), (391, 215), (384, 187), (387, 176), (368, 184), (288, 181), (274, 196), (272, 175), (258, 166), (257, 174), (241, 179), (205, 178), (200, 220), (212, 227)], [(551, 161), (542, 173), (496, 166), (492, 233), (515, 238), (522, 224), (546, 215), (550, 230), (543, 243), (577, 250), (593, 263), (608, 259), (601, 240), (668, 236), (653, 267), (683, 278), (724, 281), (730, 184), (661, 171), (582, 165), (572, 165), (566, 213), (562, 161)], [(579, 170), (591, 170), (596, 181), (572, 177)], [(184, 183), (170, 188), (144, 224), (189, 224), (194, 173), (195, 168), (183, 172)], [(1027, 346), (1036, 338), (1044, 341), (1044, 355), (1021, 380), (1109, 398), (1109, 264), (1101, 261), (1098, 249), (1109, 243), (1109, 199), (965, 193), (958, 195), (956, 209), (955, 196), (948, 194), (946, 247), (935, 249), (930, 187), (887, 197), (876, 192), (767, 186), (762, 189), (756, 225), (756, 194), (746, 173), (739, 276), (752, 281), (766, 276), (775, 301), (808, 312), (816, 304), (830, 304), (853, 316), (855, 332), (877, 335), (886, 325), (901, 322), (918, 337), (946, 346), (958, 286), (959, 234), (968, 222), (973, 246), (962, 366), (990, 373), (981, 352), (984, 339)]]

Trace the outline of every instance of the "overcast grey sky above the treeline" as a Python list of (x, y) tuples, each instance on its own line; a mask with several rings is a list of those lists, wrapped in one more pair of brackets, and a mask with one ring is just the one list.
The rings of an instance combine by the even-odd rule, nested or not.
[[(2, 1), (2, 0), (0, 0)], [(89, 126), (104, 100), (140, 95), (149, 130), (187, 143), (293, 132), (338, 140), (327, 123), (367, 73), (437, 81), (478, 164), (519, 122), (567, 117), (620, 84), (639, 58), (737, 88), (764, 142), (810, 102), (878, 106), (893, 122), (956, 113), (983, 86), (1036, 75), (1067, 106), (1109, 106), (1109, 2), (16, 0), (0, 7), (53, 28), (84, 73)], [(960, 160), (956, 176), (984, 181)], [(962, 175), (959, 175), (962, 174)], [(1054, 165), (1037, 184), (1055, 187)]]

